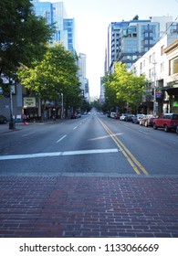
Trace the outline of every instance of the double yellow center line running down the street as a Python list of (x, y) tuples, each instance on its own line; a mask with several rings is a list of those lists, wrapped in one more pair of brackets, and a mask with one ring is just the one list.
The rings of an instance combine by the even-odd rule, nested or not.
[(104, 127), (104, 129), (107, 131), (107, 133), (110, 134), (110, 137), (112, 138), (112, 140), (115, 142), (115, 144), (117, 144), (117, 146), (121, 149), (121, 153), (126, 157), (126, 159), (128, 160), (128, 162), (130, 163), (131, 167), (134, 169), (134, 171), (136, 172), (136, 174), (141, 175), (141, 172), (148, 176), (148, 172), (145, 170), (145, 168), (141, 165), (141, 163), (131, 154), (131, 151), (120, 142), (119, 138), (110, 131), (109, 127), (101, 122), (99, 120), (99, 123), (101, 123), (101, 125)]

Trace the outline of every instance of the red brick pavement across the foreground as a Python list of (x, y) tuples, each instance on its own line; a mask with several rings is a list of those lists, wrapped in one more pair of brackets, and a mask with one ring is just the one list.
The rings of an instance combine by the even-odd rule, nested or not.
[(178, 176), (0, 176), (0, 237), (178, 237)]

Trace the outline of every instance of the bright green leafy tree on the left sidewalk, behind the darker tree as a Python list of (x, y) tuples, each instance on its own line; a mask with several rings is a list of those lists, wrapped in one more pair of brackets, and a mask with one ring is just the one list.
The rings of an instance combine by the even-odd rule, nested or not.
[[(73, 53), (62, 44), (48, 47), (44, 58), (32, 68), (18, 70), (21, 83), (41, 101), (58, 101), (61, 93), (67, 105), (79, 103), (78, 66)], [(45, 108), (45, 104), (44, 104)]]

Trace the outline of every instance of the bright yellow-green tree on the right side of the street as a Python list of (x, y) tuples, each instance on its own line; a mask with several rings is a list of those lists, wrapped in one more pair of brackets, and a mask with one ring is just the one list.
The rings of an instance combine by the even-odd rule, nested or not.
[(147, 80), (144, 76), (136, 77), (126, 69), (121, 62), (115, 63), (115, 71), (103, 79), (106, 89), (106, 97), (113, 104), (119, 105), (123, 111), (124, 107), (130, 106), (136, 112), (141, 104), (141, 96)]

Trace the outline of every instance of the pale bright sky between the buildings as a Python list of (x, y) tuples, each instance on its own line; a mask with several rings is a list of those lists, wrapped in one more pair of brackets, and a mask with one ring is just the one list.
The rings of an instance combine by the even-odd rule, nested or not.
[[(79, 52), (87, 55), (89, 94), (99, 97), (100, 77), (104, 75), (104, 57), (111, 22), (150, 16), (178, 17), (178, 0), (40, 0), (63, 2), (68, 18), (75, 18)], [(176, 20), (178, 21), (178, 19)]]

